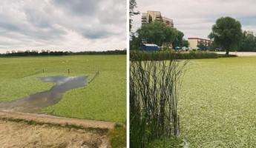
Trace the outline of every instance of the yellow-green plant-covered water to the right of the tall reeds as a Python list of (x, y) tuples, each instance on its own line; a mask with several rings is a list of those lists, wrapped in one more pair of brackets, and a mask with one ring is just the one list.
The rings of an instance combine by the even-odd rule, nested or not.
[(180, 95), (189, 147), (255, 147), (256, 57), (191, 60)]

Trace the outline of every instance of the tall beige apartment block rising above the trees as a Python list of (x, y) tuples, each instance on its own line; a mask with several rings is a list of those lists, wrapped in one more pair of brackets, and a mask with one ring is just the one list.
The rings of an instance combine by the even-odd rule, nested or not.
[(160, 11), (147, 11), (147, 13), (142, 13), (142, 24), (148, 24), (150, 21), (162, 21), (169, 27), (174, 27), (174, 21), (163, 17)]

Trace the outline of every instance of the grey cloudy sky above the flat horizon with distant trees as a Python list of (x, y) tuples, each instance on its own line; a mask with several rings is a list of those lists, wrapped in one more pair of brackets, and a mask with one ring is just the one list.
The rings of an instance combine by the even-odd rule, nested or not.
[(125, 47), (125, 0), (0, 1), (0, 53)]

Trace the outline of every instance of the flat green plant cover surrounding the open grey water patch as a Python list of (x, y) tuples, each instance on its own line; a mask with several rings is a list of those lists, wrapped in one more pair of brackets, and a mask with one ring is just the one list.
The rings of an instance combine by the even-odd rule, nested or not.
[(66, 92), (58, 104), (42, 112), (102, 121), (124, 122), (126, 119), (125, 55), (0, 58), (0, 70), (0, 101), (13, 101), (49, 90), (53, 83), (41, 82), (37, 79), (39, 76), (86, 75), (90, 81), (99, 71), (90, 84)]

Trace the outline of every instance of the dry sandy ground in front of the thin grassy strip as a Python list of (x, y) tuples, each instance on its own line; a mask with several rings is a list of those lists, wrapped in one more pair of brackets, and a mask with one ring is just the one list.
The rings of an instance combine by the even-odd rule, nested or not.
[(1, 148), (109, 147), (105, 134), (88, 132), (83, 129), (28, 125), (22, 122), (0, 120), (0, 131)]

